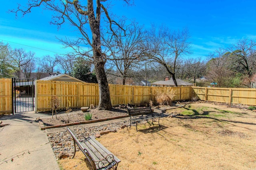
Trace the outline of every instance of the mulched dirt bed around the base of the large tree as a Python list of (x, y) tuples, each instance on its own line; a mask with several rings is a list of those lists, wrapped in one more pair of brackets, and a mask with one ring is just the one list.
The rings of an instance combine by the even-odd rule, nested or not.
[(66, 123), (75, 123), (75, 122), (81, 122), (86, 121), (84, 118), (84, 115), (86, 113), (92, 114), (91, 120), (98, 120), (98, 119), (105, 119), (105, 118), (111, 118), (111, 117), (118, 117), (123, 115), (128, 115), (127, 111), (125, 109), (111, 109), (111, 110), (98, 110), (98, 109), (91, 109), (87, 112), (80, 111), (73, 111), (68, 113), (61, 113), (57, 114), (57, 119), (55, 118), (55, 115), (52, 118), (44, 118), (42, 119), (45, 126), (52, 126), (52, 125), (63, 125)]

